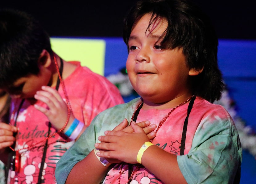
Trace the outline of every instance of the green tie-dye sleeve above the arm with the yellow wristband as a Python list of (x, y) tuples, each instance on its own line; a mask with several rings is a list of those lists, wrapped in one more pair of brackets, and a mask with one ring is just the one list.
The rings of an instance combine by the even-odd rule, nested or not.
[(233, 183), (241, 166), (242, 149), (232, 119), (212, 119), (200, 123), (189, 153), (177, 156), (188, 183)]

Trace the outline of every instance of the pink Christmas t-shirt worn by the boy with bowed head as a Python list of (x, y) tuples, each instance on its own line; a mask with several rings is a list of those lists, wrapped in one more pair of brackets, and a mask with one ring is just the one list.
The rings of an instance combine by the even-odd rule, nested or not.
[[(99, 112), (123, 103), (123, 99), (118, 88), (105, 77), (93, 73), (87, 67), (81, 67), (80, 62), (73, 63), (77, 65), (77, 68), (64, 80), (65, 88), (74, 116), (89, 126)], [(58, 91), (65, 99), (61, 85)], [(12, 101), (11, 112), (15, 113), (15, 116), (11, 117), (12, 119), (16, 117), (20, 103), (20, 99)], [(45, 106), (40, 101), (36, 104)], [(19, 132), (15, 150), (45, 139), (48, 134), (48, 122), (48, 118), (42, 112), (25, 100), (17, 118), (16, 126), (19, 128)], [(50, 133), (55, 131), (51, 128)], [(59, 134), (48, 140), (42, 183), (56, 183), (54, 176), (56, 163), (72, 144), (72, 141)], [(20, 171), (9, 171), (8, 183), (37, 183), (44, 145), (45, 142), (42, 142), (35, 148), (19, 151), (21, 154)]]

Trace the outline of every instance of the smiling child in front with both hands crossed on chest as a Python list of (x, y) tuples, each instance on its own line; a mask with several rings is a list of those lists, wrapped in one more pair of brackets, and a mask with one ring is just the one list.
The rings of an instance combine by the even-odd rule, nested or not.
[(142, 0), (125, 18), (123, 39), (141, 98), (94, 118), (58, 162), (57, 182), (239, 183), (236, 127), (212, 104), (224, 84), (209, 18), (186, 0)]

